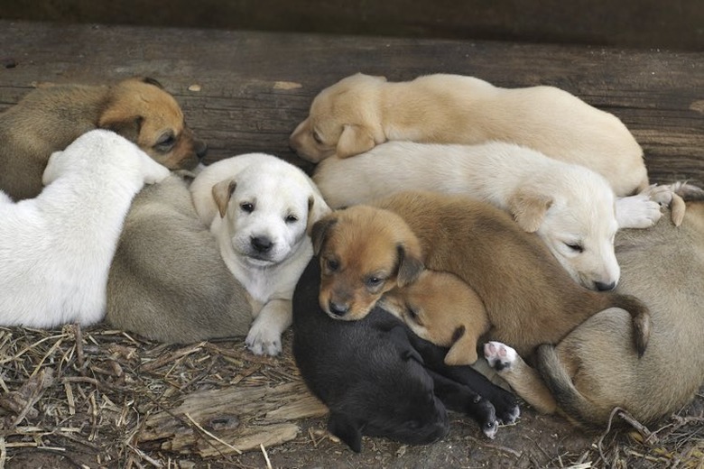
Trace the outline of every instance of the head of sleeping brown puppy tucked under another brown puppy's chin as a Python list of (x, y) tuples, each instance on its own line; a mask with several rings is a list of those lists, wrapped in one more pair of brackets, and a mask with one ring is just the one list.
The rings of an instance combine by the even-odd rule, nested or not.
[(443, 271), (423, 271), (417, 280), (384, 293), (379, 306), (403, 319), (435, 345), (449, 347), (445, 363), (477, 361), (477, 339), (489, 329), (484, 303), (467, 283)]

